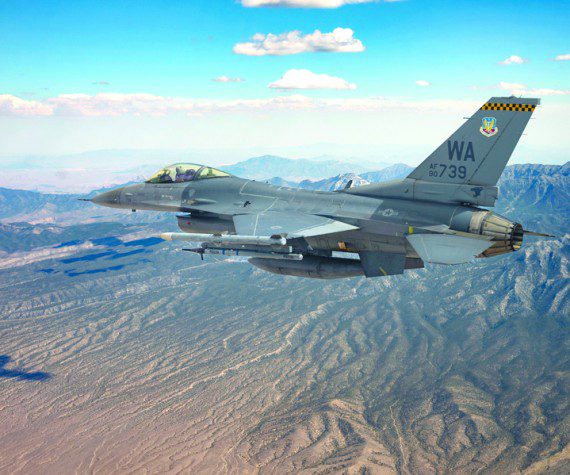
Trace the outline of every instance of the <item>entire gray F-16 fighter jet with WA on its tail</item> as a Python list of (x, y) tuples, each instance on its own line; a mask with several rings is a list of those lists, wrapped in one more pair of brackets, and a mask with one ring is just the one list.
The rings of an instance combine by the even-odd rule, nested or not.
[(521, 224), (493, 207), (497, 181), (539, 99), (493, 97), (403, 180), (335, 192), (274, 186), (180, 163), (91, 199), (182, 213), (172, 241), (248, 256), (269, 272), (320, 279), (379, 277), (518, 250)]

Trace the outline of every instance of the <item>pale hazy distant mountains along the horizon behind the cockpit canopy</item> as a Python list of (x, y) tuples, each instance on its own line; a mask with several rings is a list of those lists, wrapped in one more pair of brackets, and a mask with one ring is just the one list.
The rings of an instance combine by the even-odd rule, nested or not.
[[(233, 160), (233, 161), (232, 161)], [(0, 187), (17, 187), (44, 193), (84, 194), (98, 186), (118, 186), (128, 181), (142, 181), (161, 167), (174, 163), (198, 163), (216, 166), (243, 178), (282, 179), (298, 182), (319, 180), (339, 173), (365, 172), (385, 167), (376, 160), (361, 162), (326, 156), (291, 159), (263, 155), (239, 160), (226, 153), (222, 157), (207, 151), (99, 150), (61, 157), (20, 157), (6, 159)], [(228, 163), (229, 161), (229, 163)], [(224, 165), (220, 165), (223, 163)]]

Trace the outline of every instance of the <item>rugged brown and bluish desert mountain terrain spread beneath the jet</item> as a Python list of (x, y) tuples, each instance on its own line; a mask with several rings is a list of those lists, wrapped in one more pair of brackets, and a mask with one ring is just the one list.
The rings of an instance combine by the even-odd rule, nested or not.
[[(556, 238), (332, 282), (3, 189), (0, 473), (568, 473), (568, 170), (500, 181), (497, 211)], [(366, 173), (284, 183), (408, 171)]]

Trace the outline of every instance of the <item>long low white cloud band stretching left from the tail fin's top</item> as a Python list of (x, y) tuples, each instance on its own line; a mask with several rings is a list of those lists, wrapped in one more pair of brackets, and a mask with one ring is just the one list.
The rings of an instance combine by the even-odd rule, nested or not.
[(44, 101), (0, 95), (0, 116), (165, 116), (227, 112), (325, 111), (373, 112), (380, 110), (445, 111), (477, 107), (458, 100), (406, 101), (389, 97), (312, 98), (301, 94), (268, 99), (208, 100), (163, 97), (152, 94), (62, 94)]

